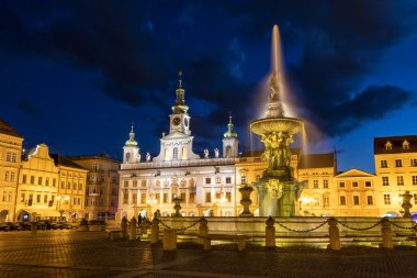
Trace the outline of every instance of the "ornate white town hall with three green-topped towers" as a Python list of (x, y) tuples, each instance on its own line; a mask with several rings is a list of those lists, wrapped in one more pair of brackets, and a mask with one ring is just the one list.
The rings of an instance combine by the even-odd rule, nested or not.
[(181, 212), (187, 216), (237, 215), (236, 167), (238, 140), (232, 116), (223, 138), (223, 157), (208, 149), (204, 157), (193, 152), (191, 118), (184, 101), (181, 74), (176, 90), (177, 101), (169, 115), (169, 134), (160, 138), (159, 155), (150, 159), (149, 154), (140, 159), (139, 146), (132, 126), (124, 146), (120, 170), (119, 218), (131, 219), (140, 213), (150, 218), (159, 210), (170, 215), (173, 198), (181, 198)]

